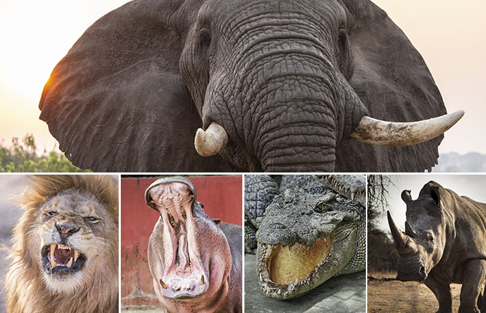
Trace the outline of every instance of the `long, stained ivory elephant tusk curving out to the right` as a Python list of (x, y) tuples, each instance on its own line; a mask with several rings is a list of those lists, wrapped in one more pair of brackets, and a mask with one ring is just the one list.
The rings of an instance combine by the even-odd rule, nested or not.
[(351, 137), (374, 145), (414, 145), (444, 134), (462, 118), (464, 111), (418, 122), (385, 122), (363, 116)]

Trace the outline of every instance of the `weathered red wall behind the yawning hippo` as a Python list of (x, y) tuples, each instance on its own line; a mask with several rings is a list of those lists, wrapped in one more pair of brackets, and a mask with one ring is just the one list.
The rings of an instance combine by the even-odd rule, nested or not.
[[(242, 176), (186, 177), (211, 218), (242, 225)], [(159, 305), (146, 260), (158, 212), (145, 204), (145, 189), (158, 177), (121, 178), (121, 305)]]

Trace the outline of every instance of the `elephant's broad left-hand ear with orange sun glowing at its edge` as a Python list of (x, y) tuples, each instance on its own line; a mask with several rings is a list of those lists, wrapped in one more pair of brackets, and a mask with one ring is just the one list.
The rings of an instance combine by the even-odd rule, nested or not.
[(194, 150), (202, 122), (179, 74), (184, 43), (174, 24), (190, 24), (201, 5), (195, 2), (127, 3), (90, 26), (56, 65), (40, 99), (40, 119), (76, 166), (229, 170), (219, 156), (203, 158)]

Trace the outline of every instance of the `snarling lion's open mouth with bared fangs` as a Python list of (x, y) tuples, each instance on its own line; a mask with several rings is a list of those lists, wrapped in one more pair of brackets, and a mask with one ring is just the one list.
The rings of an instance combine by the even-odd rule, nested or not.
[(48, 274), (74, 273), (81, 270), (86, 262), (81, 252), (60, 243), (44, 246), (41, 253)]

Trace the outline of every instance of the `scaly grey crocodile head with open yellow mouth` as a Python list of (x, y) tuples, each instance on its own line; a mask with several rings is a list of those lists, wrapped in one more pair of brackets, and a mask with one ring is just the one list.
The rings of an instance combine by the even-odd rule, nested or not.
[(354, 257), (363, 236), (364, 261), (364, 209), (328, 188), (296, 185), (274, 198), (256, 234), (260, 289), (273, 298), (295, 298), (364, 269)]

